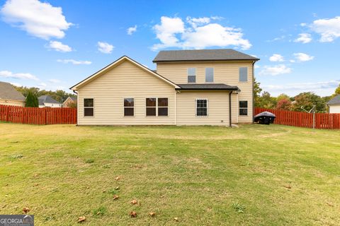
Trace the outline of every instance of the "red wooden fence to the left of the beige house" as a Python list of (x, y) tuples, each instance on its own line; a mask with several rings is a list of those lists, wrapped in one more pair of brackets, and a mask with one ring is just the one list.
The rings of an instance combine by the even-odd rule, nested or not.
[(0, 105), (0, 121), (38, 125), (77, 124), (77, 109)]

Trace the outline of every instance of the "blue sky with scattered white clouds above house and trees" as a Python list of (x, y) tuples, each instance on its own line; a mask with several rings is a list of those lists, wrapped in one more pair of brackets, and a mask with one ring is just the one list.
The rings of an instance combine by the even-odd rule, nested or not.
[(0, 0), (0, 81), (68, 88), (128, 55), (232, 48), (261, 60), (272, 95), (331, 95), (340, 83), (340, 1)]

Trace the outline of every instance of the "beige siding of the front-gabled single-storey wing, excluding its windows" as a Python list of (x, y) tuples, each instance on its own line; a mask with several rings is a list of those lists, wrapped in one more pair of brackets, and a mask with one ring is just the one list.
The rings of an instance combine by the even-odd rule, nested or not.
[[(135, 98), (135, 116), (124, 117), (124, 98)], [(147, 117), (147, 97), (169, 98), (167, 117)], [(84, 98), (94, 98), (94, 117), (84, 117)], [(174, 125), (174, 87), (123, 61), (78, 90), (79, 125)]]

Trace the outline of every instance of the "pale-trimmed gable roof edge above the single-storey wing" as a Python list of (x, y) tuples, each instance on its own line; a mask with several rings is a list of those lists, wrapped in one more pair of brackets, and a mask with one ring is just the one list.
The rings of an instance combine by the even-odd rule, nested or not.
[(101, 76), (101, 74), (105, 73), (106, 71), (114, 68), (115, 66), (118, 66), (121, 62), (123, 61), (130, 61), (132, 64), (134, 64), (135, 66), (138, 66), (140, 69), (147, 71), (149, 73), (151, 73), (152, 75), (156, 76), (157, 78), (162, 79), (163, 81), (165, 81), (166, 83), (168, 83), (169, 85), (173, 85), (175, 88), (179, 88), (178, 85), (176, 85), (176, 83), (171, 82), (169, 79), (164, 78), (163, 76), (159, 75), (158, 73), (148, 69), (146, 66), (138, 63), (137, 61), (131, 59), (128, 56), (123, 56), (120, 57), (120, 59), (114, 61), (113, 63), (109, 64), (108, 66), (104, 67), (103, 69), (97, 71), (96, 73), (94, 73), (93, 75), (85, 78), (83, 81), (81, 81), (80, 83), (77, 83), (76, 85), (72, 86), (71, 88), (69, 88), (70, 90), (77, 90), (78, 88), (80, 88), (82, 85), (88, 83), (89, 81), (93, 80), (94, 78), (97, 78), (98, 76)]

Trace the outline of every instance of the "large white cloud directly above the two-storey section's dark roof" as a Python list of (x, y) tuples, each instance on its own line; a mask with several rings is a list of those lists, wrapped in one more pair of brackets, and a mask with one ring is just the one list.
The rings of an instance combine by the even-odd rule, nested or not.
[[(216, 17), (215, 17), (216, 18)], [(186, 18), (186, 24), (179, 17), (162, 16), (161, 23), (154, 25), (154, 31), (161, 43), (154, 44), (153, 50), (167, 47), (182, 49), (204, 49), (206, 47), (235, 46), (249, 49), (249, 40), (243, 38), (239, 28), (224, 27), (210, 23), (212, 18)]]

